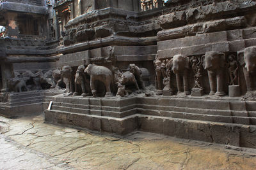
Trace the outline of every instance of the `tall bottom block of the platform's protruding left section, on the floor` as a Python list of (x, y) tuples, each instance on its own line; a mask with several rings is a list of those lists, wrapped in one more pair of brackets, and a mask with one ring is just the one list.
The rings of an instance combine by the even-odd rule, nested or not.
[(138, 125), (135, 115), (125, 118), (114, 118), (58, 110), (45, 110), (45, 122), (83, 127), (94, 131), (111, 132), (121, 135), (135, 131)]

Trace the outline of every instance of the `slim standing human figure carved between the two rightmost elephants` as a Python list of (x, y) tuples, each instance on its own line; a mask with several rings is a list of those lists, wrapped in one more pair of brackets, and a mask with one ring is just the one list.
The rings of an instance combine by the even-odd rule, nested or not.
[(229, 71), (229, 76), (230, 76), (230, 85), (237, 85), (239, 83), (238, 69), (239, 69), (239, 64), (236, 60), (236, 56), (229, 55), (228, 56), (228, 71)]

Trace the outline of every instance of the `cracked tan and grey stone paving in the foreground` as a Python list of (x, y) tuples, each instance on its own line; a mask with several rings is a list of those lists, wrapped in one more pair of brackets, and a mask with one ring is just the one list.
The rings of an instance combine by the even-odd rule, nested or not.
[[(255, 169), (256, 152), (159, 134), (118, 138), (0, 117), (0, 169)], [(242, 150), (242, 151), (241, 151)]]

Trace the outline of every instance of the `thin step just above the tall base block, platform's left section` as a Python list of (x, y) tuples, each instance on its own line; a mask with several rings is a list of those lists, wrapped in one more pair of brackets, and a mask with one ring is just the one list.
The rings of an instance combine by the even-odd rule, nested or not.
[(92, 108), (81, 109), (81, 108), (70, 108), (65, 106), (52, 105), (51, 110), (64, 111), (67, 113), (79, 113), (83, 115), (97, 115), (97, 116), (115, 117), (115, 118), (122, 118), (122, 117), (127, 117), (130, 115), (136, 114), (136, 108), (128, 111), (108, 111), (108, 110), (93, 110)]

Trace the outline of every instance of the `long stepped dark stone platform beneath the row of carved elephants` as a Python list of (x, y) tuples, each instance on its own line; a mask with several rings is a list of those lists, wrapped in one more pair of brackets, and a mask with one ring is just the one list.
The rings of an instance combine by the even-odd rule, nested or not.
[(256, 148), (256, 101), (224, 98), (57, 95), (45, 110), (45, 122), (122, 135), (147, 131)]

